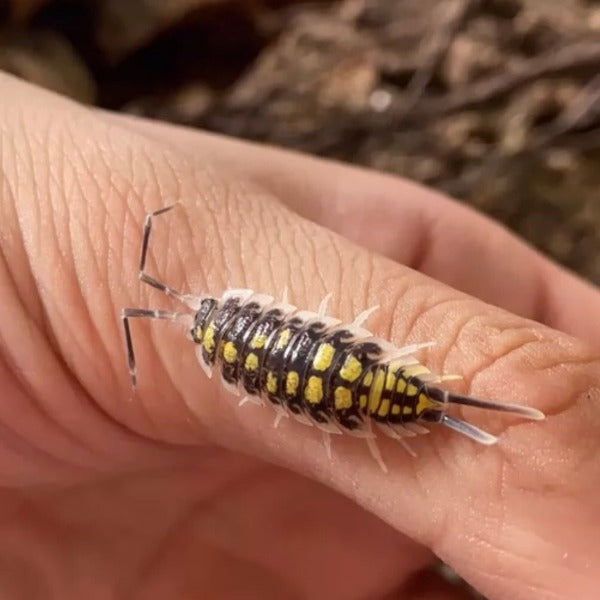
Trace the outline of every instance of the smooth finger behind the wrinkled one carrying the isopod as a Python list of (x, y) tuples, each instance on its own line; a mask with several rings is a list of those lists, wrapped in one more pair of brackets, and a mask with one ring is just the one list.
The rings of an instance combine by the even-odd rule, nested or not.
[(600, 293), (474, 211), (406, 180), (163, 123), (113, 116), (270, 190), (298, 214), (521, 316), (598, 345)]

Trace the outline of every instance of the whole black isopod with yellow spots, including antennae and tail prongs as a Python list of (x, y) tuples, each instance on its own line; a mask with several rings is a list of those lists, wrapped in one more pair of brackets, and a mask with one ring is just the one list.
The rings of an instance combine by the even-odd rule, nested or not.
[(221, 371), (224, 385), (241, 393), (240, 404), (270, 404), (275, 425), (291, 416), (323, 432), (328, 453), (330, 434), (364, 438), (382, 469), (376, 432), (402, 442), (427, 433), (427, 423), (440, 423), (481, 444), (497, 438), (447, 414), (462, 404), (543, 419), (534, 408), (463, 396), (439, 384), (456, 376), (434, 375), (414, 354), (433, 342), (397, 348), (363, 329), (376, 309), (344, 324), (326, 315), (328, 297), (317, 312), (299, 310), (287, 301), (252, 290), (226, 291), (220, 298), (180, 294), (144, 271), (153, 217), (146, 217), (140, 256), (140, 280), (190, 307), (194, 314), (125, 308), (122, 312), (129, 371), (133, 385), (136, 367), (129, 319), (145, 317), (180, 321), (186, 325), (200, 364), (209, 377)]

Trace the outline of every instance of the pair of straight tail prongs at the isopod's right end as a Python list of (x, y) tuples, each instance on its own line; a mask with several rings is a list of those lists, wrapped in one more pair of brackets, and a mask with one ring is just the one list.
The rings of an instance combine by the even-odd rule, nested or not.
[(458, 404), (462, 406), (481, 408), (483, 410), (511, 413), (532, 421), (542, 421), (546, 418), (544, 413), (536, 408), (521, 406), (519, 404), (504, 404), (501, 402), (481, 400), (471, 396), (455, 394), (454, 392), (440, 389), (438, 387), (427, 386), (426, 394), (430, 400), (434, 400), (439, 403), (439, 407), (426, 410), (420, 417), (422, 421), (440, 423), (441, 425), (444, 425), (453, 431), (461, 433), (462, 435), (487, 446), (497, 443), (498, 438), (487, 431), (480, 429), (479, 427), (475, 427), (475, 425), (471, 425), (470, 423), (461, 421), (460, 419), (456, 419), (446, 414), (449, 405)]

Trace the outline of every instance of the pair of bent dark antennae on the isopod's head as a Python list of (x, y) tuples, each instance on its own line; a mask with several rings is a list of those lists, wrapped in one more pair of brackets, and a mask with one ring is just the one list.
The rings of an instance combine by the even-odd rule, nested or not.
[[(148, 246), (150, 242), (150, 232), (152, 231), (152, 219), (158, 215), (162, 215), (171, 209), (175, 208), (178, 203), (167, 206), (166, 208), (160, 208), (148, 215), (144, 222), (144, 232), (142, 235), (142, 247), (140, 251), (140, 262), (138, 268), (138, 278), (141, 282), (148, 284), (149, 286), (163, 292), (167, 296), (178, 300), (193, 310), (197, 310), (200, 305), (200, 299), (196, 296), (188, 294), (181, 294), (177, 290), (161, 283), (148, 275), (146, 269), (146, 258), (148, 256)], [(143, 308), (124, 308), (121, 311), (121, 320), (123, 322), (123, 330), (125, 332), (125, 344), (127, 349), (127, 364), (129, 366), (129, 376), (131, 377), (131, 385), (135, 388), (137, 383), (136, 376), (136, 364), (135, 364), (135, 352), (133, 350), (133, 340), (131, 337), (131, 330), (129, 327), (129, 319), (142, 318), (142, 319), (160, 319), (165, 321), (179, 322), (183, 325), (189, 326), (190, 315), (186, 313), (179, 313), (167, 310), (148, 310)]]

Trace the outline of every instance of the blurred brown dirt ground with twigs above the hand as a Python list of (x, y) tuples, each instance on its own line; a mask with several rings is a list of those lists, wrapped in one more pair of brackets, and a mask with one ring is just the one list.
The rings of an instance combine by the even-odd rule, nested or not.
[(600, 283), (598, 0), (0, 0), (0, 68), (416, 179)]

